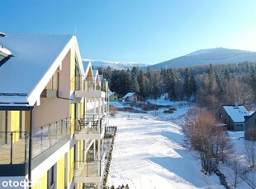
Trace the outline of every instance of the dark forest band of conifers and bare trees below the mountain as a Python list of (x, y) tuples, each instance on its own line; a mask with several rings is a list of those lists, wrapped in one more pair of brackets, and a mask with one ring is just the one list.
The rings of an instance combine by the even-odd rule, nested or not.
[(168, 93), (172, 101), (187, 100), (215, 110), (221, 104), (244, 104), (256, 99), (256, 62), (141, 71), (98, 68), (110, 90), (123, 96), (135, 92), (141, 100)]

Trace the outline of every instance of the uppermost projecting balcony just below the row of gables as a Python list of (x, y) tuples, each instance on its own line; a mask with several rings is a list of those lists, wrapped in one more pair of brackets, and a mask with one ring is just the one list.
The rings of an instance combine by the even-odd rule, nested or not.
[(105, 98), (108, 82), (102, 76), (75, 76), (72, 82), (76, 89), (74, 97)]

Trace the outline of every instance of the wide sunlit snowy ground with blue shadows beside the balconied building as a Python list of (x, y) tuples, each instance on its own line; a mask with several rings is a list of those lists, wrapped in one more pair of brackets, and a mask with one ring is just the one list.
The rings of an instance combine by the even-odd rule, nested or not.
[[(172, 117), (179, 117), (177, 113)], [(183, 147), (181, 127), (162, 121), (173, 119), (164, 116), (120, 112), (110, 119), (117, 133), (107, 185), (128, 184), (132, 189), (224, 188), (216, 175), (201, 173), (200, 161)]]

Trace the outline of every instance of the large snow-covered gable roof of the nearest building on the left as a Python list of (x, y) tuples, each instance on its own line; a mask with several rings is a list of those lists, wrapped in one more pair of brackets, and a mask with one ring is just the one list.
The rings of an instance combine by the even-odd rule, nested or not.
[(82, 68), (74, 35), (6, 34), (0, 38), (0, 45), (13, 55), (0, 67), (0, 104), (33, 106), (73, 44)]

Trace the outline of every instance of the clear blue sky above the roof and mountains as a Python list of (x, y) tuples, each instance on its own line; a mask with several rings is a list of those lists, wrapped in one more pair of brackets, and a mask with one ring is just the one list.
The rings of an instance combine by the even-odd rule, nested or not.
[(82, 58), (159, 63), (204, 48), (256, 51), (255, 0), (0, 0), (0, 31), (76, 34)]

